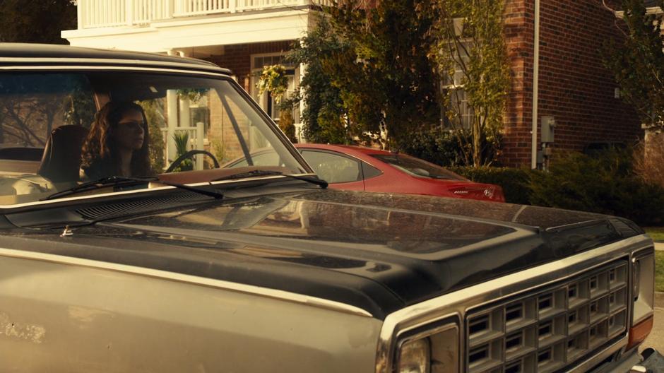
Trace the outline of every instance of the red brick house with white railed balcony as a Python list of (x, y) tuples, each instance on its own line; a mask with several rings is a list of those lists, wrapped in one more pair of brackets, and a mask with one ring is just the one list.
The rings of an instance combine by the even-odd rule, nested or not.
[[(78, 29), (64, 30), (62, 37), (77, 46), (214, 61), (234, 71), (244, 89), (278, 118), (271, 97), (256, 93), (255, 73), (281, 61), (292, 42), (312, 27), (310, 13), (321, 1), (78, 0)], [(619, 36), (615, 14), (600, 0), (541, 0), (535, 90), (535, 13), (535, 0), (506, 0), (512, 87), (504, 165), (533, 163), (533, 143), (536, 150), (543, 148), (543, 117), (555, 121), (555, 141), (547, 148), (582, 150), (588, 143), (629, 143), (643, 136), (636, 114), (617, 97), (617, 85), (601, 62), (603, 41)], [(291, 88), (303, 71), (304, 66), (289, 66)], [(538, 119), (535, 141), (533, 114)]]

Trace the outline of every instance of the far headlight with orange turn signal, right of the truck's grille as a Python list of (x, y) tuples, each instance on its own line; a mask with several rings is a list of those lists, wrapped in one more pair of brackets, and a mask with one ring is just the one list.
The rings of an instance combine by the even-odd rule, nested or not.
[(653, 249), (632, 256), (632, 295), (634, 297), (632, 324), (627, 348), (643, 342), (653, 328), (655, 305), (655, 254)]

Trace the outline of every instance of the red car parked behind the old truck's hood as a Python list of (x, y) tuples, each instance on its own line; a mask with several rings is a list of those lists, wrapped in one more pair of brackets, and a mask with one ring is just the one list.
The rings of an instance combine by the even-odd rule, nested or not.
[(500, 186), (471, 182), (410, 155), (360, 146), (303, 143), (295, 147), (331, 188), (505, 201)]

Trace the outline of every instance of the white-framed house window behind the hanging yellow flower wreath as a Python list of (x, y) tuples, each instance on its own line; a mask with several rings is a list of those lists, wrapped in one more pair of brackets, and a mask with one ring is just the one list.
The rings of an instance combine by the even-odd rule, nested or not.
[[(283, 65), (286, 68), (286, 76), (288, 78), (287, 96), (295, 93), (297, 83), (300, 81), (300, 68), (294, 64), (285, 62), (283, 54), (254, 54), (251, 56), (251, 97), (254, 97), (254, 100), (259, 103), (261, 108), (275, 122), (279, 122), (279, 107), (274, 97), (269, 92), (259, 95), (259, 90), (256, 88), (263, 67), (273, 65)], [(300, 123), (300, 107), (293, 108), (292, 116), (295, 123)]]

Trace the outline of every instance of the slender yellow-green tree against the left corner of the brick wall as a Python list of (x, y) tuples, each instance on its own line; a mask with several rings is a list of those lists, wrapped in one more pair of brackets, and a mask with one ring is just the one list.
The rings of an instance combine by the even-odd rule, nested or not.
[(437, 6), (442, 16), (434, 58), (443, 81), (443, 117), (466, 164), (488, 165), (497, 157), (510, 84), (504, 0), (440, 0)]

